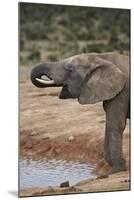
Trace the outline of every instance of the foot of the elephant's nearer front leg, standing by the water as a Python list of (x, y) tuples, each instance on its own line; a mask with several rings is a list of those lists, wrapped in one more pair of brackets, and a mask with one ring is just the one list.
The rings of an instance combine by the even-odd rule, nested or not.
[(120, 171), (126, 171), (126, 164), (125, 164), (125, 160), (122, 159), (120, 161), (118, 161), (117, 163), (114, 163), (112, 166), (112, 170), (111, 173), (117, 173)]

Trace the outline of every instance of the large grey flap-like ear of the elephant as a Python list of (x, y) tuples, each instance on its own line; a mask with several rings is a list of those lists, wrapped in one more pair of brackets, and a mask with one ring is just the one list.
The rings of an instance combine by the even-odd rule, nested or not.
[(114, 98), (124, 87), (122, 71), (105, 61), (89, 67), (79, 96), (80, 104), (94, 104)]

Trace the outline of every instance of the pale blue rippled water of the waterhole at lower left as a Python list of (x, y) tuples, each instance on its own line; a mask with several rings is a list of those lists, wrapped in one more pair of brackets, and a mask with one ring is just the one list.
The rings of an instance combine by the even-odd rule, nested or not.
[(65, 160), (20, 160), (20, 189), (59, 186), (64, 181), (70, 185), (92, 178), (94, 166)]

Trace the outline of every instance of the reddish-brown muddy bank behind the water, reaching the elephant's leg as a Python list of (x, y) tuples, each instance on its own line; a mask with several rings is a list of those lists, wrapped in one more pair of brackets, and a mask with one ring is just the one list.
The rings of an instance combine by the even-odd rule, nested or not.
[[(20, 155), (33, 159), (63, 159), (96, 164), (95, 172), (109, 173), (111, 168), (104, 161), (104, 137), (99, 134), (75, 135), (70, 140), (68, 136), (54, 138), (44, 137), (32, 130), (23, 130), (20, 133)], [(123, 138), (124, 157), (129, 169), (129, 134)]]

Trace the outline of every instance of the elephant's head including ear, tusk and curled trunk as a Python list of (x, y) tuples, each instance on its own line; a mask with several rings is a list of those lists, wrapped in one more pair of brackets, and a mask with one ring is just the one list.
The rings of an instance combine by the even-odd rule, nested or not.
[(80, 104), (92, 104), (115, 97), (122, 90), (125, 77), (112, 62), (94, 54), (81, 54), (37, 65), (31, 72), (31, 81), (40, 88), (63, 87), (61, 99), (78, 98)]

